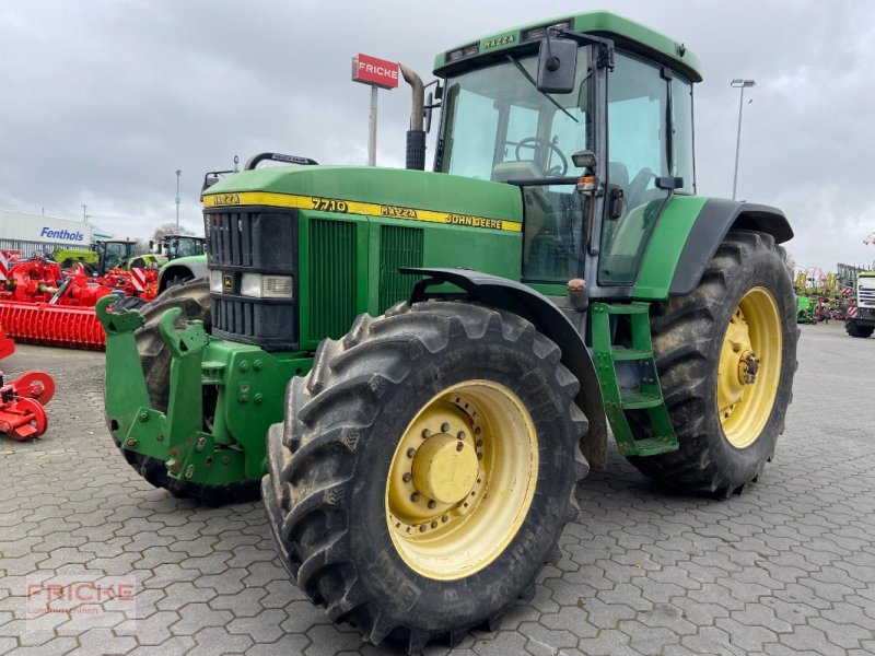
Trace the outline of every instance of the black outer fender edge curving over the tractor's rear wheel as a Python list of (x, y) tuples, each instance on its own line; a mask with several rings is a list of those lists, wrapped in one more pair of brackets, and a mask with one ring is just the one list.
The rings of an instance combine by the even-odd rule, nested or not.
[(699, 285), (708, 262), (733, 229), (755, 230), (772, 235), (777, 244), (793, 238), (790, 222), (777, 208), (719, 198), (709, 199), (696, 218), (696, 223), (680, 251), (668, 290), (672, 296), (685, 296)]

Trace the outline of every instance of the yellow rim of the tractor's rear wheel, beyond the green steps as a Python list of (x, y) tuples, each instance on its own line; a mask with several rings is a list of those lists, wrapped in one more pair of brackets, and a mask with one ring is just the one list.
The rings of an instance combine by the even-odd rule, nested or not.
[(781, 380), (781, 314), (766, 288), (752, 288), (732, 314), (718, 368), (723, 434), (736, 448), (754, 444), (766, 427)]

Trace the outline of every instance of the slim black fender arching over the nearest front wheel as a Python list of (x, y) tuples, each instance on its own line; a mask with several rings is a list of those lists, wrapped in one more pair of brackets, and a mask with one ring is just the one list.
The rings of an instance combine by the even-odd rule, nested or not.
[(464, 290), (471, 301), (514, 313), (532, 321), (539, 332), (550, 338), (562, 351), (562, 364), (580, 382), (580, 390), (574, 400), (590, 422), (587, 434), (581, 438), (581, 450), (592, 468), (605, 468), (607, 420), (602, 388), (583, 337), (562, 309), (529, 286), (489, 273), (469, 269), (401, 268), (399, 271), (429, 277), (413, 285), (409, 303), (446, 295), (446, 293), (428, 294), (427, 290), (432, 285), (451, 283)]

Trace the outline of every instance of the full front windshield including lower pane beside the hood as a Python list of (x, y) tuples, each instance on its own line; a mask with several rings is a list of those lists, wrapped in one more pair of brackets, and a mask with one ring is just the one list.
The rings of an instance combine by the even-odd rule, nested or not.
[(536, 54), (446, 81), (438, 171), (498, 183), (542, 180), (522, 187), (526, 282), (563, 282), (582, 274), (588, 201), (573, 184), (548, 180), (582, 173), (571, 155), (592, 149), (588, 52), (586, 47), (578, 50), (571, 93), (547, 95), (535, 87)]

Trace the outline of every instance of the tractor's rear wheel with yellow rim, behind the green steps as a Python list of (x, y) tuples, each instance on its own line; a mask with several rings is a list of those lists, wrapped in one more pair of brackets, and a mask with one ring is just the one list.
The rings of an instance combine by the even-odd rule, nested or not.
[(699, 286), (663, 304), (651, 328), (680, 446), (629, 460), (684, 491), (740, 493), (771, 459), (792, 399), (798, 328), (783, 249), (770, 235), (731, 232)]

